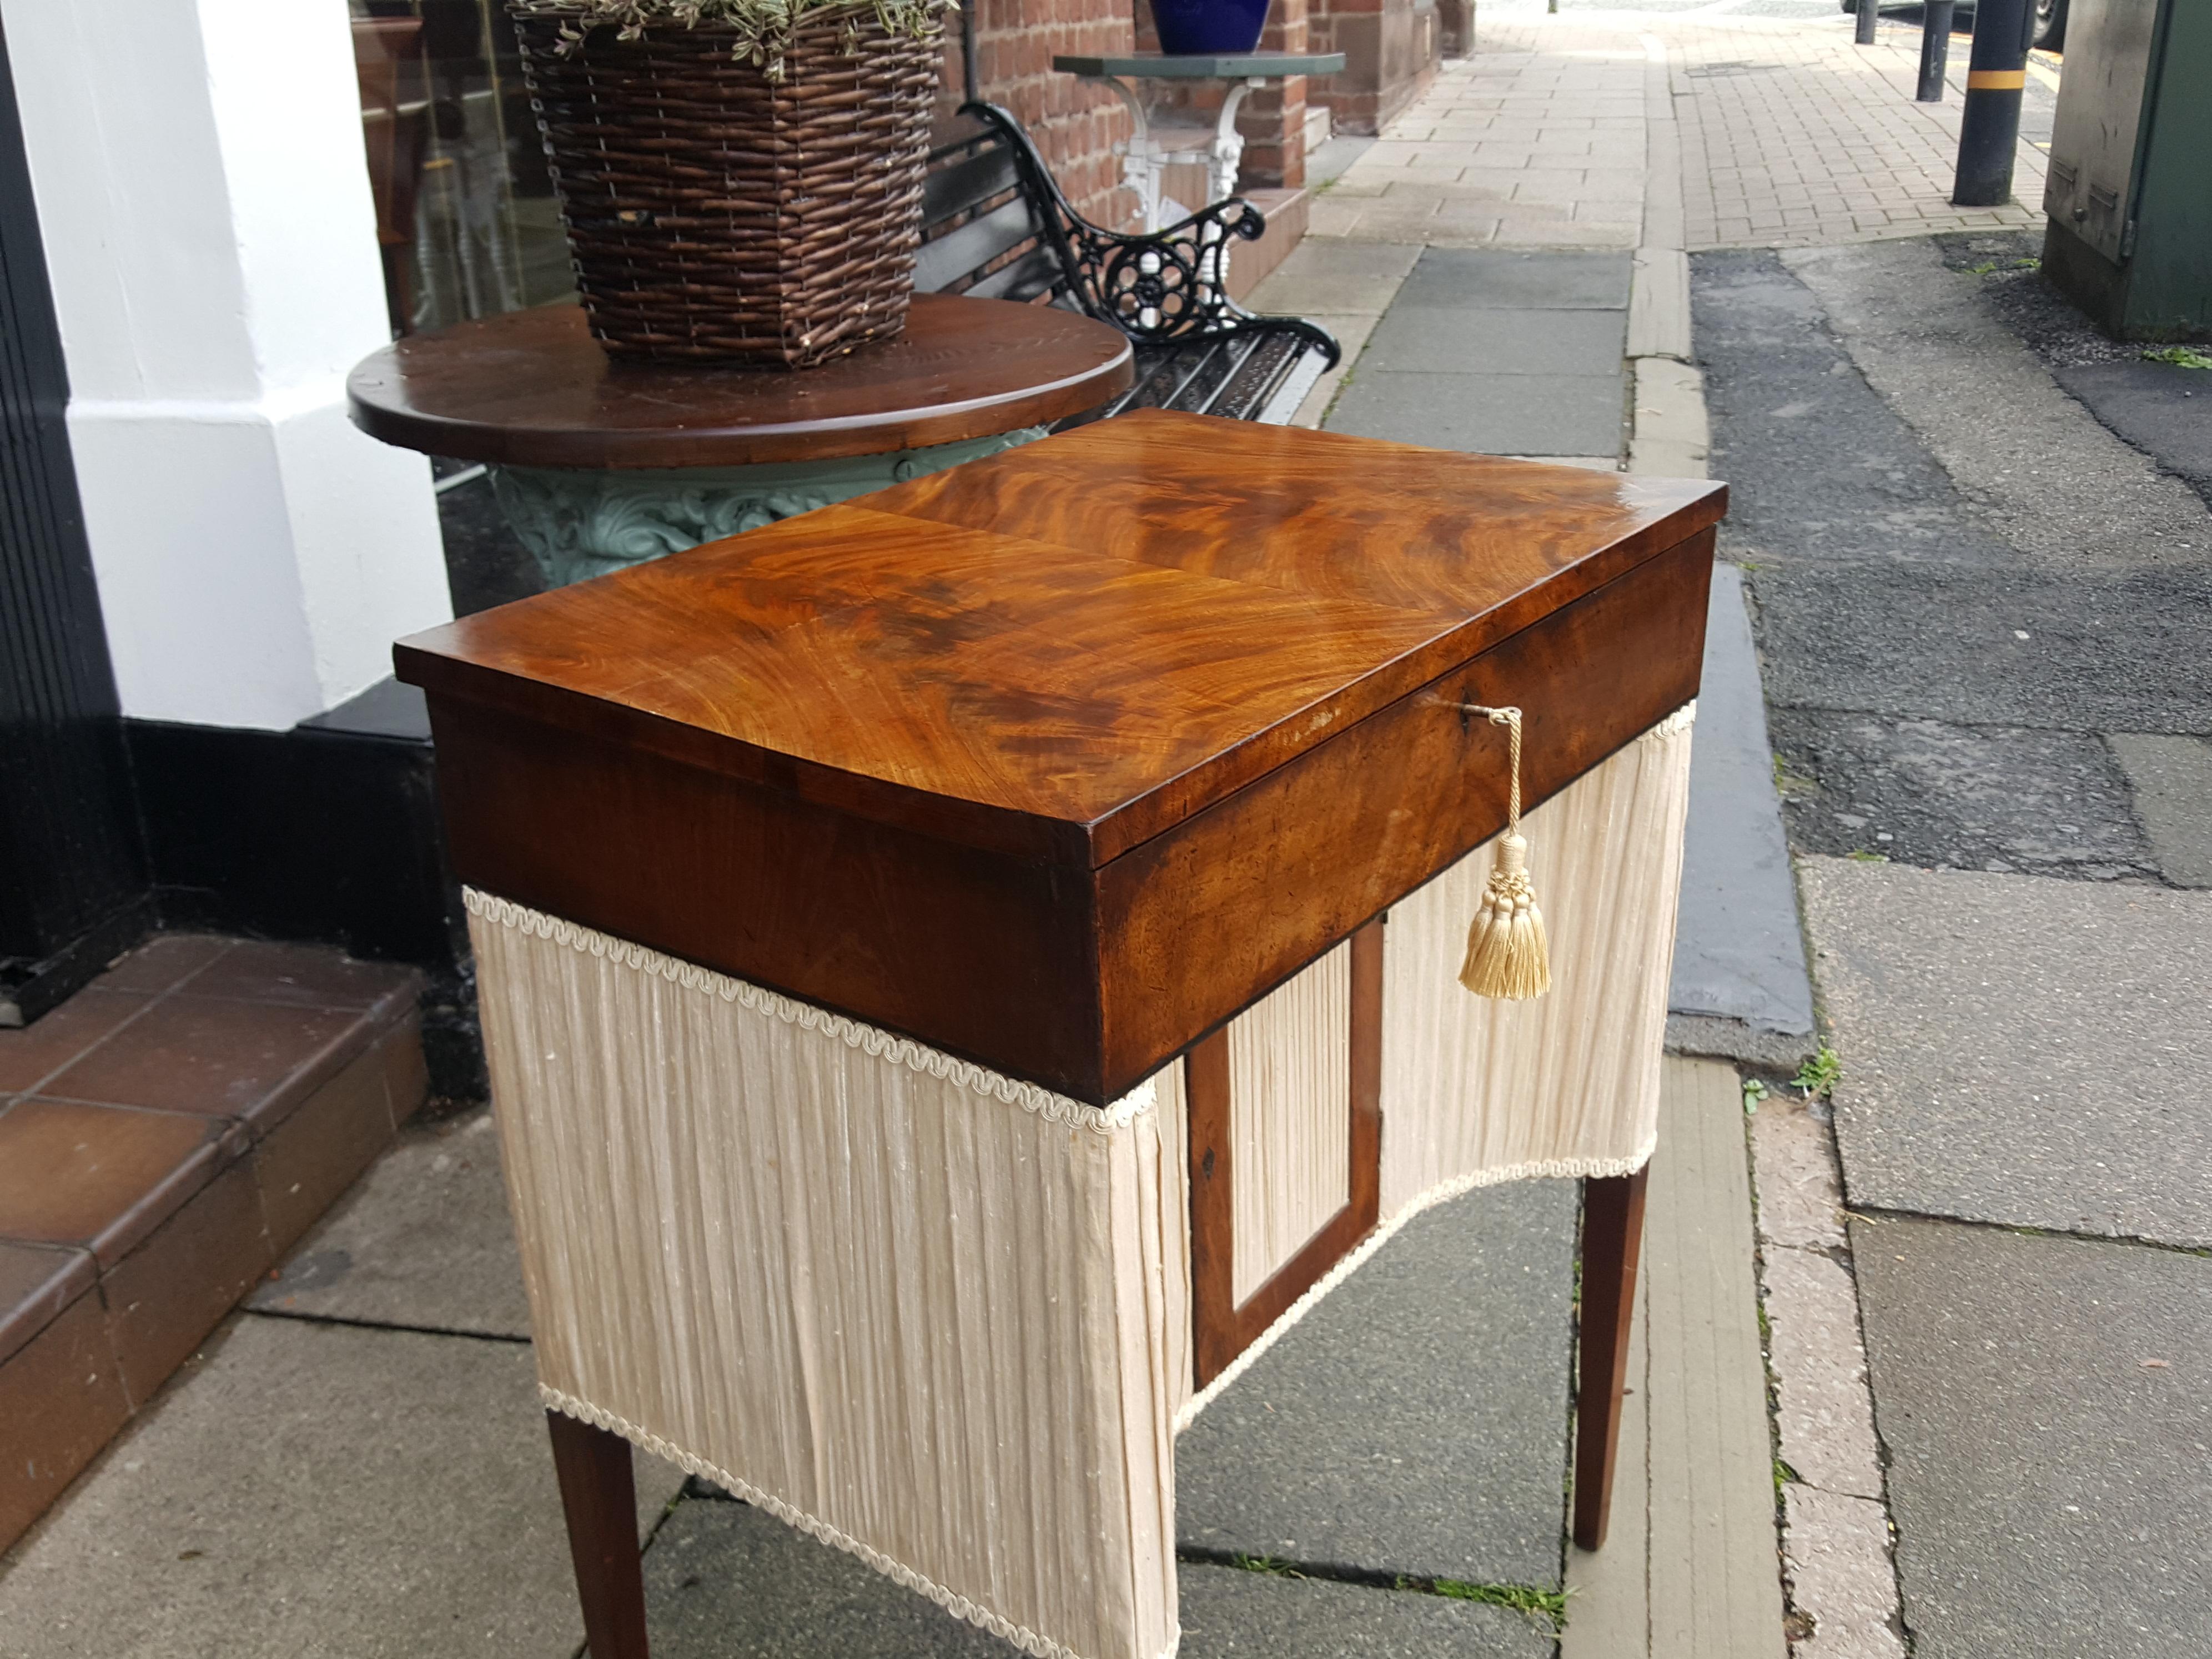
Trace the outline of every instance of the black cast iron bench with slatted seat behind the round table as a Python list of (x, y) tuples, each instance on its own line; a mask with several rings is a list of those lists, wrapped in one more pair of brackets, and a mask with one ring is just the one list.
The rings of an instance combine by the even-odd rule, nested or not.
[(1077, 310), (1121, 330), (1137, 383), (1082, 425), (1124, 409), (1186, 409), (1287, 425), (1343, 349), (1303, 316), (1259, 316), (1221, 285), (1221, 259), (1267, 221), (1214, 201), (1148, 237), (1106, 230), (1060, 195), (1029, 133), (998, 104), (964, 104), (982, 131), (945, 144), (922, 186), (914, 285)]

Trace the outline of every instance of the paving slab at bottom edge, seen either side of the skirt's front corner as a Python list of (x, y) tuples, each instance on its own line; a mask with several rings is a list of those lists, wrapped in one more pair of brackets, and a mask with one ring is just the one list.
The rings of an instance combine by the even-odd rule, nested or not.
[[(1181, 1564), (1183, 1659), (1546, 1659), (1509, 1608)], [(750, 1504), (688, 1500), (646, 1555), (659, 1659), (1002, 1659), (998, 1637)]]

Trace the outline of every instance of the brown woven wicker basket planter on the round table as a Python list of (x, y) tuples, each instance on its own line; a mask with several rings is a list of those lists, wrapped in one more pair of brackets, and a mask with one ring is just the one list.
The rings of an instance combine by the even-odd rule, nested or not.
[(905, 327), (940, 31), (816, 11), (781, 77), (714, 27), (515, 7), (577, 285), (615, 356), (803, 369)]

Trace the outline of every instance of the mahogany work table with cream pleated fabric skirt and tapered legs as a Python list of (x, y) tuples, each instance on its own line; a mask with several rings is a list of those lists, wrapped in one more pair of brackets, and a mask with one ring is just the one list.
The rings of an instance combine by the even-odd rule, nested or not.
[[(1031, 1655), (1177, 1639), (1175, 1433), (1405, 1219), (1657, 1133), (1688, 480), (1133, 414), (407, 639), (595, 1659), (622, 1440)], [(1553, 989), (1460, 953), (1524, 710)]]

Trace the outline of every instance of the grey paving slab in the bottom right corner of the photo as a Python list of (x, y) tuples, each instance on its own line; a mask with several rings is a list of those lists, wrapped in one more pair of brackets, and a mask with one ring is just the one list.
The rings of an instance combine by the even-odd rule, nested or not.
[(2212, 1652), (2212, 1261), (1940, 1221), (1851, 1245), (1913, 1652)]

